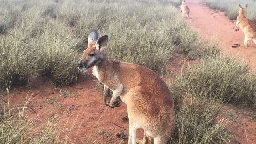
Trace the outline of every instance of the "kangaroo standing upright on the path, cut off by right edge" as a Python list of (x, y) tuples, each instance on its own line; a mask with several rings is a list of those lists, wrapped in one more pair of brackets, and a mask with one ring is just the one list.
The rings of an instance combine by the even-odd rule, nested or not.
[(242, 29), (244, 32), (244, 44), (242, 47), (247, 48), (247, 46), (249, 46), (249, 40), (253, 40), (256, 44), (256, 24), (244, 16), (247, 4), (244, 8), (242, 8), (242, 6), (239, 4), (239, 8), (239, 15), (236, 18), (235, 31), (239, 31), (239, 28)]

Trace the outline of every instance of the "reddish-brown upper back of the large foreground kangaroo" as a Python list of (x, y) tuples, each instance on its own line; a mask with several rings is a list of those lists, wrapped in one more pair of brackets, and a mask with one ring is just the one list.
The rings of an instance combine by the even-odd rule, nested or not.
[(153, 70), (137, 64), (122, 62), (116, 65), (117, 69), (119, 69), (117, 71), (118, 79), (124, 85), (122, 94), (126, 94), (134, 86), (140, 86), (149, 92), (152, 91), (156, 95), (161, 95), (160, 97), (156, 97), (157, 99), (162, 100), (170, 97), (171, 93), (166, 83)]

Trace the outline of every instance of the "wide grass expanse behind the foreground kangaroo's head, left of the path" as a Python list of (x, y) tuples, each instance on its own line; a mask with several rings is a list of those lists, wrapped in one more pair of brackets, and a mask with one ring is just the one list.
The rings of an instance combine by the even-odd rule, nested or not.
[[(198, 50), (203, 46), (199, 46), (197, 32), (170, 5), (174, 1), (1, 2), (6, 23), (2, 24), (6, 36), (0, 37), (2, 88), (35, 76), (64, 85), (76, 82), (78, 52), (84, 49), (87, 35), (94, 28), (110, 37), (106, 48), (110, 59), (140, 64), (158, 74), (165, 72), (176, 46), (192, 59), (204, 53)], [(16, 17), (11, 16), (13, 11)]]

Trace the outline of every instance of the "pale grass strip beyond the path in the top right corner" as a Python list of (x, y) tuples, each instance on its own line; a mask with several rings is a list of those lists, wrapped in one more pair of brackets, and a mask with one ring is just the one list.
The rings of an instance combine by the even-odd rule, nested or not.
[(225, 12), (230, 20), (236, 20), (239, 14), (239, 4), (242, 7), (248, 4), (246, 8), (245, 15), (246, 18), (256, 22), (256, 1), (255, 0), (203, 0), (203, 4), (214, 10), (220, 10)]

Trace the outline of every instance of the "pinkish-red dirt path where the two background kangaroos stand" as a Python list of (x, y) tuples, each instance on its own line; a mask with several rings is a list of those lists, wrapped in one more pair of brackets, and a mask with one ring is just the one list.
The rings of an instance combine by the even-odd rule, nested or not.
[(203, 40), (212, 37), (218, 38), (223, 52), (249, 61), (249, 65), (254, 68), (256, 66), (256, 44), (251, 40), (250, 47), (247, 49), (232, 48), (231, 46), (234, 44), (244, 42), (244, 32), (242, 30), (235, 32), (236, 20), (229, 20), (228, 17), (224, 16), (224, 12), (218, 11), (216, 13), (199, 2), (200, 0), (186, 1), (186, 5), (190, 8), (190, 17), (196, 18), (186, 19), (186, 22), (198, 30)]

